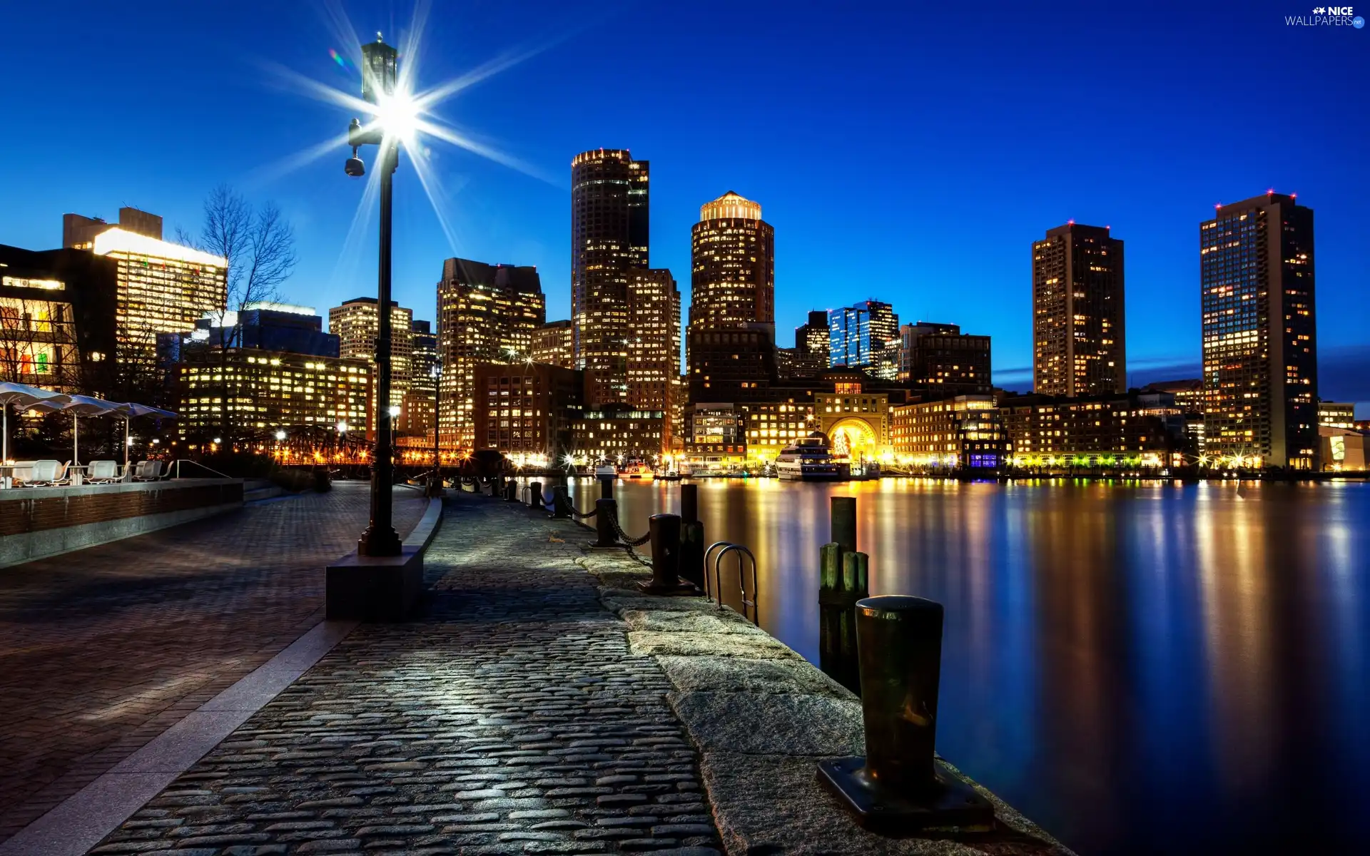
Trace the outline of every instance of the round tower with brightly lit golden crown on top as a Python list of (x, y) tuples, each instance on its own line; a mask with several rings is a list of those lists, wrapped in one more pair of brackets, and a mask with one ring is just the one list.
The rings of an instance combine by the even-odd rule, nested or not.
[(729, 190), (690, 230), (692, 330), (775, 323), (775, 230), (759, 203)]

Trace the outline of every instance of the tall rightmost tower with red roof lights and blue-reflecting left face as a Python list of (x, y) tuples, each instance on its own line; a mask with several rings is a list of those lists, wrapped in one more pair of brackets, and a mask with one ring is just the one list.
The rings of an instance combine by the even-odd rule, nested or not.
[(1199, 247), (1206, 452), (1315, 468), (1312, 210), (1274, 192), (1219, 205)]

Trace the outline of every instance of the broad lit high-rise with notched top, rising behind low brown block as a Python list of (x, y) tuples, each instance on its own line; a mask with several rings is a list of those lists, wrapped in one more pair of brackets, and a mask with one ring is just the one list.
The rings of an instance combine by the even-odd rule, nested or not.
[[(626, 315), (626, 305), (621, 311)], [(547, 320), (543, 281), (530, 266), (448, 259), (437, 284), (437, 314), (438, 427), (459, 446), (471, 448), (475, 367), (533, 359), (533, 337)]]

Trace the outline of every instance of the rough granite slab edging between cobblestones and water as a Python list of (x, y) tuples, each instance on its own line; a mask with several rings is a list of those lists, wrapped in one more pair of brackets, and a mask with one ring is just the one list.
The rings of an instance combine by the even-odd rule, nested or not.
[(588, 549), (578, 563), (627, 623), (630, 649), (655, 657), (670, 679), (670, 705), (699, 746), (730, 855), (1070, 853), (969, 778), (995, 805), (993, 833), (889, 838), (860, 829), (817, 781), (819, 759), (866, 752), (856, 696), (730, 608), (644, 594), (636, 583), (651, 571), (625, 551)]

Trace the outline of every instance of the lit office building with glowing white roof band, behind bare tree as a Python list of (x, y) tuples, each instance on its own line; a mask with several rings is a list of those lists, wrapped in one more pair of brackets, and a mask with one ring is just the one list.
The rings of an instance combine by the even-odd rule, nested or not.
[(122, 227), (96, 234), (90, 249), (116, 266), (116, 359), (125, 379), (152, 377), (159, 333), (189, 330), (225, 310), (227, 260), (221, 256)]

